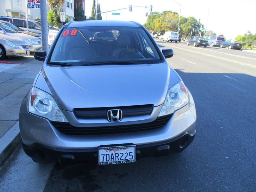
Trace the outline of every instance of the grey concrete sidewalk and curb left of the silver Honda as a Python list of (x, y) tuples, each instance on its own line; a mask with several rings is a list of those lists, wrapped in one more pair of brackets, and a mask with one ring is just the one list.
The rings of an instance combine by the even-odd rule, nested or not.
[(0, 72), (0, 165), (20, 141), (17, 132), (20, 104), (42, 68), (42, 62), (32, 58), (21, 58), (20, 61), (25, 63), (12, 65), (12, 68)]

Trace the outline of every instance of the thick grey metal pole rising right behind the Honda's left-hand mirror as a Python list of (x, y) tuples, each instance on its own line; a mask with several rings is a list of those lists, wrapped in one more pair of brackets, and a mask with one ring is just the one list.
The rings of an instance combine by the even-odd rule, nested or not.
[(47, 0), (40, 0), (40, 15), (41, 15), (41, 35), (42, 35), (42, 43), (43, 50), (48, 52), (49, 44), (48, 44), (48, 25), (47, 25)]

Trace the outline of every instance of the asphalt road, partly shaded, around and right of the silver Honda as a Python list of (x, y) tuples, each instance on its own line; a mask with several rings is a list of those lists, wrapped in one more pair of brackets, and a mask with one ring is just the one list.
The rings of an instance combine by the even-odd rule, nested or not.
[(19, 147), (0, 191), (255, 191), (256, 53), (158, 42), (192, 93), (196, 137), (180, 154), (134, 164), (39, 165)]

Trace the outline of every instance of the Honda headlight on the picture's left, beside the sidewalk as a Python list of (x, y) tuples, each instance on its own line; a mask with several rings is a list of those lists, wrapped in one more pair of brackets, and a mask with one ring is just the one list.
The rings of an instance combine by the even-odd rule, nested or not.
[(28, 111), (50, 121), (68, 122), (52, 95), (32, 87), (29, 93)]

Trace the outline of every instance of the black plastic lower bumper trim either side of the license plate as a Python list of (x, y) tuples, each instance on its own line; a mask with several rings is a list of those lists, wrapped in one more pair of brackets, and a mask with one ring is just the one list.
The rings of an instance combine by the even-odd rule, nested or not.
[[(193, 134), (184, 132), (170, 140), (136, 146), (137, 159), (147, 156), (162, 156), (171, 152), (181, 152), (194, 140)], [(98, 162), (97, 148), (92, 149), (60, 149), (34, 143), (30, 146), (22, 143), (25, 153), (39, 163), (59, 162), (76, 164), (80, 162)]]

